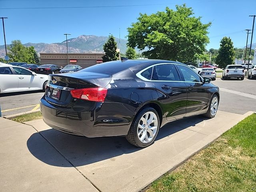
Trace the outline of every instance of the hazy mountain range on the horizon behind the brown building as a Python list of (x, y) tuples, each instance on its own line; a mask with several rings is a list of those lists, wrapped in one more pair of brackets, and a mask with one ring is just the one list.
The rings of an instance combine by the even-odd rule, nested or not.
[[(68, 39), (68, 52), (69, 53), (102, 53), (103, 45), (108, 39), (107, 36), (95, 35), (80, 35), (77, 38)], [(119, 48), (119, 38), (116, 38), (117, 46)], [(127, 40), (120, 39), (120, 51), (126, 52)], [(9, 45), (7, 45), (9, 46)], [(34, 46), (38, 53), (66, 53), (66, 40), (59, 43), (26, 43), (24, 46)], [(4, 45), (0, 46), (0, 57), (4, 57)]]

